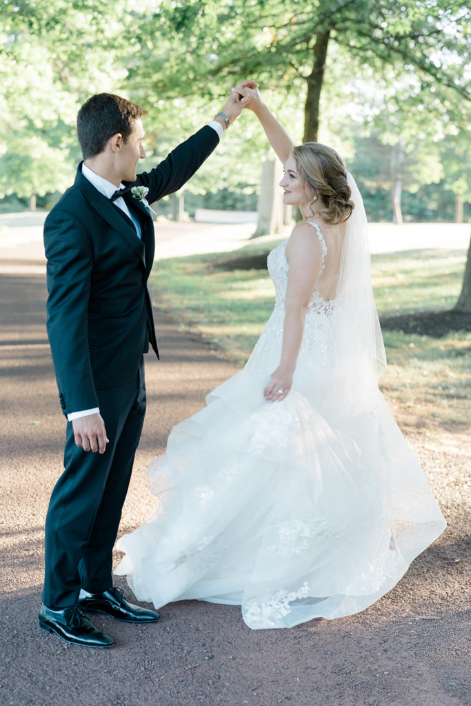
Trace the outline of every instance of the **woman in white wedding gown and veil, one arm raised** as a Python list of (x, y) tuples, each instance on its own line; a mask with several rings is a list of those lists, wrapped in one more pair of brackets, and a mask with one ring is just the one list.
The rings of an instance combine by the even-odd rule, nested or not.
[(251, 109), (303, 220), (268, 256), (275, 308), (242, 371), (149, 467), (155, 514), (115, 573), (158, 609), (242, 606), (254, 629), (364, 610), (446, 526), (378, 389), (386, 366), (366, 215), (337, 152), (294, 147), (251, 81)]

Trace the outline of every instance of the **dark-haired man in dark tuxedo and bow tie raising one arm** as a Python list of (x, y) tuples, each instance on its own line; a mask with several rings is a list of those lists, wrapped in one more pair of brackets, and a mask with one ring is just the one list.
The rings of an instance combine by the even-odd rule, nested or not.
[(149, 343), (158, 357), (148, 202), (190, 179), (249, 100), (232, 93), (213, 121), (142, 174), (143, 109), (101, 93), (78, 113), (83, 162), (44, 224), (47, 333), (68, 424), (64, 472), (46, 518), (39, 618), (42, 630), (68, 642), (114, 644), (84, 611), (137, 623), (159, 618), (112, 584), (112, 548), (145, 414)]

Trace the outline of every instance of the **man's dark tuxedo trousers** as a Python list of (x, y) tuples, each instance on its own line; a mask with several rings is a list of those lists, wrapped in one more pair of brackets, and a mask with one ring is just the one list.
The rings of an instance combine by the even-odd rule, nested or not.
[(107, 449), (83, 451), (67, 423), (64, 473), (47, 511), (42, 600), (53, 609), (76, 605), (81, 587), (112, 587), (112, 551), (145, 415), (143, 361), (132, 383), (97, 397)]

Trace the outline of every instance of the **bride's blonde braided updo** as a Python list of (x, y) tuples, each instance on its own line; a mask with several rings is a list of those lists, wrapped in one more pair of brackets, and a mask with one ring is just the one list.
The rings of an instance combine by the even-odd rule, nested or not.
[(335, 150), (318, 142), (306, 142), (292, 151), (300, 181), (307, 181), (322, 197), (327, 213), (326, 223), (336, 224), (352, 215), (353, 201), (347, 184), (347, 169)]

